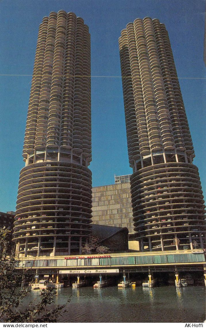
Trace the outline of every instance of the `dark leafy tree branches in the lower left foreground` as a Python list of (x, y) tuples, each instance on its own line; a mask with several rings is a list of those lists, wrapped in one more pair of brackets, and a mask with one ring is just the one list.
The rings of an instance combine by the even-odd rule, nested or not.
[(40, 292), (39, 302), (30, 302), (22, 308), (30, 288), (20, 288), (27, 274), (26, 270), (15, 269), (16, 261), (9, 249), (10, 237), (9, 229), (0, 228), (0, 322), (57, 322), (66, 304), (52, 307), (55, 285)]

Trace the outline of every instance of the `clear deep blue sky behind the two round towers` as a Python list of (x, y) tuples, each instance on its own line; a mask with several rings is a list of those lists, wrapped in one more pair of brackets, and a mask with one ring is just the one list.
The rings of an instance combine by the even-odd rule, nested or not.
[(118, 37), (127, 23), (150, 16), (164, 23), (169, 32), (193, 138), (194, 164), (206, 194), (204, 0), (1, 0), (0, 211), (15, 210), (39, 24), (44, 16), (58, 10), (75, 12), (89, 26), (91, 75), (101, 76), (91, 79), (93, 186), (113, 184), (114, 174), (132, 173)]

